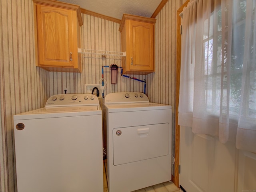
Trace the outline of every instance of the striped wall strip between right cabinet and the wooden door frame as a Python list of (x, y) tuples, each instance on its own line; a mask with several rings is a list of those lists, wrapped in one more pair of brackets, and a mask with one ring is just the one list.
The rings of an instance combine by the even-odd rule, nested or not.
[[(156, 16), (156, 72), (148, 74), (150, 102), (172, 105), (172, 156), (175, 157), (176, 13), (186, 0), (168, 1)], [(173, 161), (173, 163), (175, 163)], [(173, 166), (174, 167), (174, 166)], [(174, 175), (174, 169), (172, 170)]]

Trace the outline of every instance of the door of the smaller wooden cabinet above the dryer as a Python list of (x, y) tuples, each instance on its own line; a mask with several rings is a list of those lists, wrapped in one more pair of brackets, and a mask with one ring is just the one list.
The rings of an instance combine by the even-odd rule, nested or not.
[[(154, 72), (154, 25), (130, 21), (130, 70)], [(129, 62), (130, 60), (130, 62)]]

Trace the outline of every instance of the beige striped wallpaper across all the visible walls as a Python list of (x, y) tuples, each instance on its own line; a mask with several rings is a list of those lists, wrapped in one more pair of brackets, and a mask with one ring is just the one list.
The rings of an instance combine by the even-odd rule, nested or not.
[[(150, 102), (171, 104), (175, 101), (176, 10), (185, 0), (168, 1), (156, 16), (156, 72), (135, 75), (146, 79)], [(12, 116), (44, 106), (48, 97), (84, 93), (85, 84), (98, 84), (102, 66), (120, 59), (91, 58), (82, 54), (82, 73), (48, 72), (35, 66), (32, 0), (0, 1), (0, 192), (16, 192), (15, 152)], [(81, 48), (120, 51), (119, 23), (82, 14)], [(120, 74), (120, 70), (118, 70)], [(144, 83), (118, 76), (110, 84), (110, 69), (104, 68), (111, 92), (143, 92)], [(173, 115), (174, 117), (174, 115)], [(173, 118), (174, 120), (174, 118)]]

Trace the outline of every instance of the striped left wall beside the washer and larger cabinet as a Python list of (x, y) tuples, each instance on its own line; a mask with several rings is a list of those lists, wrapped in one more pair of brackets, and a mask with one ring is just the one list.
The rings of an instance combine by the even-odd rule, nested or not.
[(0, 1), (0, 192), (15, 192), (14, 114), (44, 106), (48, 72), (35, 66), (32, 0)]

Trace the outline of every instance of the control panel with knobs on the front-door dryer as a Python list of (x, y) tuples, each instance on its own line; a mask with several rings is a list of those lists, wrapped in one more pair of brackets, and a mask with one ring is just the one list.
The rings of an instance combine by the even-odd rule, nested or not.
[(149, 102), (148, 97), (140, 92), (116, 92), (105, 96), (105, 104)]

